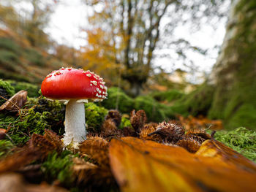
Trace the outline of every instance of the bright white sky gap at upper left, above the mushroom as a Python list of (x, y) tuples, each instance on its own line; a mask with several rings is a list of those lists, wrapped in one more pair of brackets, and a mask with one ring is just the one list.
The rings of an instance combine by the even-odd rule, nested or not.
[(89, 7), (80, 0), (61, 0), (45, 31), (59, 44), (79, 49), (86, 45), (86, 34), (80, 28), (88, 25), (90, 12)]

